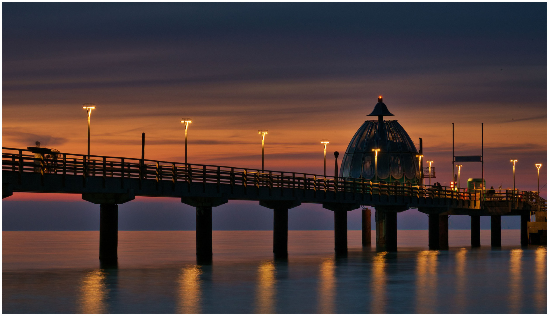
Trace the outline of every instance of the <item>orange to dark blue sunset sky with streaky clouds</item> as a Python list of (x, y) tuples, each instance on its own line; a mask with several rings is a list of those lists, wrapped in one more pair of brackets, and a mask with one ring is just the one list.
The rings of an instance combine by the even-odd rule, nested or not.
[[(144, 132), (145, 158), (182, 162), (186, 117), (189, 163), (260, 168), (257, 130), (267, 129), (265, 169), (322, 174), (320, 140), (329, 139), (330, 174), (332, 153), (345, 152), (383, 95), (391, 119), (423, 139), (433, 181), (451, 181), (452, 123), (456, 155), (480, 154), (484, 123), (487, 186), (512, 188), (509, 160), (518, 159), (516, 186), (537, 190), (534, 164), (543, 163), (547, 194), (544, 2), (4, 2), (2, 44), (4, 147), (40, 141), (86, 153), (81, 106), (95, 103), (92, 154), (140, 157)], [(465, 181), (480, 175), (480, 164), (461, 170)], [(37, 212), (79, 200), (15, 193), (2, 202), (3, 229), (29, 218), (10, 213), (22, 205)], [(124, 207), (147, 213), (151, 203), (172, 209), (144, 198)], [(229, 204), (237, 218), (267, 211)], [(318, 229), (333, 223), (321, 206), (300, 208), (328, 214)], [(306, 225), (295, 229), (315, 229)]]

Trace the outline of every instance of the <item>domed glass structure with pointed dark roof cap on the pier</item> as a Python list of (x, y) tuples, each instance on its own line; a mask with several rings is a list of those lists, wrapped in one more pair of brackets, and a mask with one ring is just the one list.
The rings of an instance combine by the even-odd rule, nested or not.
[[(384, 120), (393, 116), (379, 97), (369, 117), (352, 137), (341, 161), (339, 176), (343, 178), (371, 179), (386, 182), (420, 182), (418, 154), (410, 136), (396, 120)], [(376, 177), (376, 152), (377, 155)]]

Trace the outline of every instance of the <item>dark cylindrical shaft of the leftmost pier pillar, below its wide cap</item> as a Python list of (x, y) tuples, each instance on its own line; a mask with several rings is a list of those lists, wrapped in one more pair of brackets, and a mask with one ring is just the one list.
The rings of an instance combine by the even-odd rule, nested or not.
[(118, 206), (99, 204), (99, 260), (115, 263), (118, 260)]

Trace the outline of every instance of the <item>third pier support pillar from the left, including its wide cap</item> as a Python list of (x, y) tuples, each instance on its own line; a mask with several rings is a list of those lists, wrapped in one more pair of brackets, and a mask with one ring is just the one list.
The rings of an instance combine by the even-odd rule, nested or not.
[(273, 253), (276, 258), (288, 257), (288, 209), (299, 201), (261, 200), (259, 205), (273, 210)]

